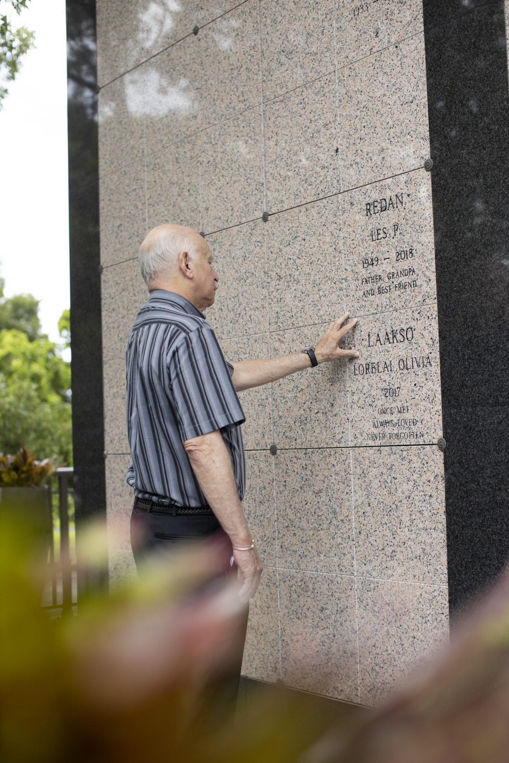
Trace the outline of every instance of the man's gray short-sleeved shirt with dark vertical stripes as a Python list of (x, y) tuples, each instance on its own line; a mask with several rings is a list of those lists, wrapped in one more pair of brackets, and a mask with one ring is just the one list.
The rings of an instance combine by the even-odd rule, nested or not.
[(127, 483), (140, 498), (206, 506), (186, 440), (221, 430), (242, 501), (245, 420), (231, 376), (205, 315), (172, 291), (150, 294), (127, 344), (127, 436), (133, 462)]

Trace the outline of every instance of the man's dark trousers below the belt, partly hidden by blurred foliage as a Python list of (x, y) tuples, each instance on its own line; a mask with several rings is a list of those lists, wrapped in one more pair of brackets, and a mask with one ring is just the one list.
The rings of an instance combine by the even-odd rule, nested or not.
[[(199, 553), (199, 541), (211, 537), (217, 542), (217, 567), (210, 585), (217, 590), (217, 587), (226, 585), (232, 575), (234, 579), (237, 578), (237, 566), (233, 561), (230, 539), (213, 514), (177, 514), (173, 517), (172, 514), (143, 511), (136, 507), (131, 513), (130, 543), (138, 575), (143, 575), (143, 569), (150, 566), (150, 559), (154, 555), (172, 555), (189, 542), (194, 542), (196, 552)], [(246, 606), (239, 618), (235, 646), (227, 670), (220, 681), (211, 684), (210, 697), (206, 700), (214, 707), (216, 720), (222, 717), (226, 719), (235, 711), (248, 614), (249, 607)]]

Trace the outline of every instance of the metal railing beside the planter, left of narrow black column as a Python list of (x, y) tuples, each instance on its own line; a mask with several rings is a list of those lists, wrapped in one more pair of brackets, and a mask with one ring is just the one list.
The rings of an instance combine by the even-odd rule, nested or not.
[[(50, 537), (49, 575), (42, 607), (56, 614), (76, 608), (76, 523), (74, 517), (73, 470), (60, 467), (49, 485), (53, 532)], [(56, 496), (58, 499), (56, 500)]]

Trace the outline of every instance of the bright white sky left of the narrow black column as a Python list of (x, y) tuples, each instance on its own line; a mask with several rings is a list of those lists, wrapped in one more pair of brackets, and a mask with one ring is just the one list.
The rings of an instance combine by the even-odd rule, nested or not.
[(57, 341), (69, 307), (65, 0), (32, 0), (19, 23), (36, 48), (0, 110), (0, 275), (6, 295), (40, 299), (43, 331)]

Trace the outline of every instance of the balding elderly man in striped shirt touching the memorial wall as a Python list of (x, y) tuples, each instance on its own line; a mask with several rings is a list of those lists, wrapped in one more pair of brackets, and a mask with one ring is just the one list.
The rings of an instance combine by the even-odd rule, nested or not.
[(153, 228), (140, 247), (140, 271), (150, 298), (126, 355), (134, 558), (140, 567), (147, 551), (222, 536), (224, 577), (238, 575), (248, 602), (263, 565), (242, 508), (245, 418), (237, 391), (358, 356), (338, 346), (356, 320), (335, 320), (314, 348), (232, 364), (202, 312), (214, 304), (219, 281), (205, 239), (180, 225)]

